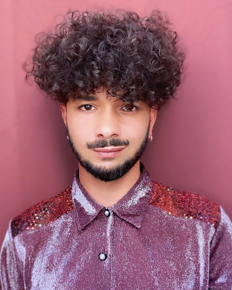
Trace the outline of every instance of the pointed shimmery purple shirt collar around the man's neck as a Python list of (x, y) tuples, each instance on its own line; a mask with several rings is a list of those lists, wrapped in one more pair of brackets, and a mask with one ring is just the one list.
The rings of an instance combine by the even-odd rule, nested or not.
[[(116, 204), (110, 207), (116, 215), (137, 228), (140, 228), (143, 216), (148, 209), (152, 191), (150, 175), (143, 164), (140, 164), (142, 172), (137, 182)], [(87, 226), (104, 208), (84, 189), (78, 178), (78, 171), (72, 185), (72, 200), (79, 230)]]

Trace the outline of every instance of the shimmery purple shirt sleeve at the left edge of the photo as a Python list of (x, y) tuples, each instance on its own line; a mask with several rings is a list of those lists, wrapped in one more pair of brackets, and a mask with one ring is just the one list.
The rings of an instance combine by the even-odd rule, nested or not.
[(0, 277), (2, 290), (24, 290), (23, 265), (17, 257), (10, 227), (1, 248)]

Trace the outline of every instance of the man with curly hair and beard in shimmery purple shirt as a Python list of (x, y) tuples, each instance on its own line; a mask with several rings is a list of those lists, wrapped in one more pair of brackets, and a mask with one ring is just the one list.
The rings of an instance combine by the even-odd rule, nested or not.
[(72, 186), (10, 222), (3, 289), (232, 289), (232, 225), (140, 163), (184, 55), (158, 12), (78, 13), (33, 56), (79, 160)]

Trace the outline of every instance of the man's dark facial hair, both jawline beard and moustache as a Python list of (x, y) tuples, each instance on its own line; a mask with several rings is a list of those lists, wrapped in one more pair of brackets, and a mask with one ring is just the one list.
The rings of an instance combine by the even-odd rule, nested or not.
[[(87, 172), (93, 175), (93, 177), (95, 177), (96, 179), (109, 182), (109, 181), (117, 180), (123, 177), (123, 175), (125, 175), (128, 171), (130, 171), (130, 169), (139, 161), (139, 159), (141, 158), (148, 144), (149, 129), (150, 129), (150, 124), (148, 126), (146, 135), (142, 143), (140, 144), (139, 148), (136, 150), (134, 156), (124, 160), (121, 164), (118, 164), (111, 168), (104, 168), (104, 166), (95, 166), (89, 160), (82, 159), (81, 155), (78, 153), (77, 149), (74, 146), (71, 136), (69, 135), (69, 130), (68, 130), (68, 137), (69, 137), (69, 143), (72, 148), (72, 151), (77, 157), (80, 165)], [(129, 145), (129, 144), (130, 144), (130, 141), (128, 139), (121, 140), (119, 138), (111, 139), (109, 142), (99, 139), (92, 143), (90, 142), (86, 143), (88, 148), (103, 148), (107, 146), (121, 146), (121, 145)]]

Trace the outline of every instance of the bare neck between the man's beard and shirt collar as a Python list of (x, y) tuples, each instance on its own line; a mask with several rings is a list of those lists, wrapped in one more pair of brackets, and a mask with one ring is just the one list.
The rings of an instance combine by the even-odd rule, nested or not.
[(104, 182), (94, 178), (79, 165), (79, 180), (84, 189), (99, 204), (110, 207), (129, 191), (140, 176), (140, 162), (138, 161), (127, 174), (118, 180)]

